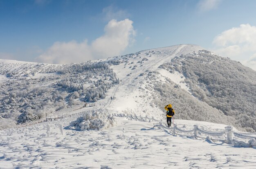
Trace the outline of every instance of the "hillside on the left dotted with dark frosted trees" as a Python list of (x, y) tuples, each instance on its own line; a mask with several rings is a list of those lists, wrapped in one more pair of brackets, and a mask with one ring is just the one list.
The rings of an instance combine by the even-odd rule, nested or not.
[(108, 65), (100, 62), (53, 65), (1, 61), (0, 116), (18, 123), (103, 99), (108, 89), (119, 83)]

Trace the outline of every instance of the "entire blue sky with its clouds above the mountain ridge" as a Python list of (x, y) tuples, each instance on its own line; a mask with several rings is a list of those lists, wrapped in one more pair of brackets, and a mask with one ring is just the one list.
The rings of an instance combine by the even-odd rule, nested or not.
[(256, 70), (254, 0), (0, 0), (0, 59), (64, 64), (197, 44)]

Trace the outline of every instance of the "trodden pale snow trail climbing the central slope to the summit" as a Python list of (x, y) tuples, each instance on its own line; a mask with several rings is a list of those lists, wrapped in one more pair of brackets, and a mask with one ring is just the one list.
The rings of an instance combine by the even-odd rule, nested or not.
[[(136, 78), (139, 77), (141, 74), (145, 74), (146, 71), (155, 71), (160, 65), (171, 61), (171, 59), (174, 58), (175, 56), (179, 56), (182, 53), (189, 53), (189, 52), (193, 52), (193, 50), (200, 50), (200, 49), (201, 48), (199, 46), (193, 46), (193, 45), (175, 45), (175, 46), (169, 46), (166, 48), (143, 50), (139, 52), (140, 54), (137, 57), (135, 57), (135, 59), (129, 60), (135, 63), (133, 64), (133, 66), (137, 66), (135, 70), (130, 70), (130, 68), (125, 68), (127, 69), (127, 72), (126, 72), (124, 70), (124, 63), (110, 66), (110, 68), (113, 68), (114, 72), (117, 73), (117, 76), (120, 79), (120, 83), (117, 84), (115, 88), (112, 90), (111, 94), (108, 95), (108, 99), (104, 99), (103, 102), (105, 103), (103, 103), (104, 106), (101, 108), (109, 108), (113, 101), (116, 102), (117, 104), (117, 106), (114, 106), (114, 109), (116, 109), (116, 107), (119, 107), (119, 105), (122, 105), (123, 103), (120, 103), (120, 102), (117, 103), (117, 101), (110, 99), (110, 96), (112, 98), (115, 98), (115, 95), (117, 94), (117, 92), (119, 92), (117, 96), (120, 96), (120, 94), (123, 96), (122, 99), (126, 97), (130, 97), (132, 96), (132, 94), (134, 95), (134, 93), (136, 93), (135, 91), (140, 86), (138, 84), (139, 81), (137, 81)], [(147, 63), (138, 64), (138, 61), (140, 61), (143, 58), (148, 59), (146, 61)], [(117, 59), (120, 59), (120, 57), (118, 57)], [(119, 74), (120, 72), (121, 74)], [(124, 74), (124, 72), (126, 72), (127, 74)]]

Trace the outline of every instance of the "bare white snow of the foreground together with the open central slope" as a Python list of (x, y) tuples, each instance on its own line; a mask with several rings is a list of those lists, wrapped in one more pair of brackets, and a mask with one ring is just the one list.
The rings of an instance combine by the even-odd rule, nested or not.
[[(191, 48), (200, 50), (199, 46)], [(177, 134), (174, 134), (173, 129), (164, 127), (165, 119), (162, 119), (160, 127), (157, 127), (159, 122), (154, 120), (140, 121), (140, 115), (161, 119), (163, 114), (162, 110), (149, 104), (153, 102), (153, 96), (152, 92), (145, 88), (146, 81), (148, 75), (156, 74), (150, 73), (151, 71), (157, 71), (160, 73), (159, 76), (162, 75), (162, 79), (159, 80), (164, 81), (164, 77), (169, 77), (181, 88), (188, 90), (185, 83), (182, 83), (184, 77), (182, 78), (177, 72), (171, 74), (158, 67), (181, 53), (190, 53), (191, 48), (186, 48), (186, 45), (171, 46), (155, 49), (156, 51), (144, 50), (138, 57), (131, 55), (127, 64), (111, 66), (122, 82), (115, 88), (110, 88), (106, 98), (97, 101), (97, 107), (82, 108), (82, 105), (77, 105), (77, 109), (70, 108), (74, 111), (67, 109), (59, 111), (65, 116), (70, 115), (68, 118), (0, 131), (0, 169), (254, 169), (255, 147), (243, 148), (254, 145), (254, 140), (251, 143), (248, 143), (250, 140), (248, 138), (245, 139), (246, 141), (236, 140), (234, 146), (221, 141), (227, 139), (226, 133), (223, 136), (211, 136), (198, 132), (198, 137), (194, 138), (193, 132), (176, 131)], [(40, 75), (37, 74), (35, 77), (39, 78)], [(111, 100), (112, 96), (115, 96), (115, 99)], [(74, 113), (97, 108), (132, 114), (127, 118), (133, 121), (121, 115), (109, 116), (108, 119), (107, 114), (97, 113), (88, 113), (79, 119), (78, 116), (71, 116)], [(70, 126), (72, 121), (73, 127)], [(226, 127), (215, 123), (176, 119), (175, 124), (184, 131), (193, 131), (194, 125), (198, 125), (200, 129), (209, 133), (221, 132)], [(233, 130), (238, 132), (236, 129)], [(238, 139), (235, 135), (233, 137)]]

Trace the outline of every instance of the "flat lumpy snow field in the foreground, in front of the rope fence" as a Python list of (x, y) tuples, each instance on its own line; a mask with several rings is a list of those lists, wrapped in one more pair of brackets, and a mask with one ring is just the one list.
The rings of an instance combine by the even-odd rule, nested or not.
[(252, 169), (256, 166), (253, 148), (173, 136), (168, 130), (153, 129), (153, 123), (126, 118), (118, 121), (116, 127), (104, 131), (65, 129), (64, 135), (59, 132), (59, 123), (67, 126), (65, 119), (0, 131), (1, 167)]

